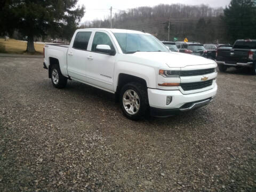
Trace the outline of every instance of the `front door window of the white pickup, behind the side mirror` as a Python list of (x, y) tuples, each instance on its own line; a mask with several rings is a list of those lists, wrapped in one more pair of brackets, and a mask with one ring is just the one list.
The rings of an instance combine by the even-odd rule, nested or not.
[(92, 42), (92, 51), (99, 52), (96, 47), (97, 45), (109, 45), (111, 50), (114, 50), (114, 46), (106, 33), (96, 32)]

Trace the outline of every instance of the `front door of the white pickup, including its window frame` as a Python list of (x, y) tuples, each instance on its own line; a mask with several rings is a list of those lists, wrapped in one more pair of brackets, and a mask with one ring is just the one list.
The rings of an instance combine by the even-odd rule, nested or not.
[(89, 57), (86, 62), (87, 81), (94, 86), (113, 91), (116, 57), (115, 55), (100, 52), (96, 49), (97, 45), (109, 45), (111, 50), (117, 50), (113, 39), (107, 32), (94, 32)]

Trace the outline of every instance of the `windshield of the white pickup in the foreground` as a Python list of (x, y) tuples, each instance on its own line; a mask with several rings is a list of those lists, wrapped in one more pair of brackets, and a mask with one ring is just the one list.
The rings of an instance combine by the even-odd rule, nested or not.
[(134, 33), (114, 33), (123, 53), (164, 51), (167, 48), (152, 35)]

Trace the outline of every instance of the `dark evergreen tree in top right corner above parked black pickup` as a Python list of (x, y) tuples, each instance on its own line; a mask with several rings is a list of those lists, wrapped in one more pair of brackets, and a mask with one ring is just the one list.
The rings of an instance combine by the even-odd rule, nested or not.
[(239, 38), (256, 38), (255, 14), (254, 0), (231, 0), (222, 17), (231, 41)]

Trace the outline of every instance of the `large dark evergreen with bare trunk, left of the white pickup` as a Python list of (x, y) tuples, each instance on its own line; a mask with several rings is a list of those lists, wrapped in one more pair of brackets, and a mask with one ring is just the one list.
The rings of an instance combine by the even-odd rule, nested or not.
[(59, 36), (69, 37), (70, 31), (74, 32), (84, 15), (84, 6), (75, 8), (78, 0), (7, 1), (9, 6), (6, 12), (15, 20), (12, 27), (28, 36), (27, 52), (35, 52), (35, 36), (58, 33)]

